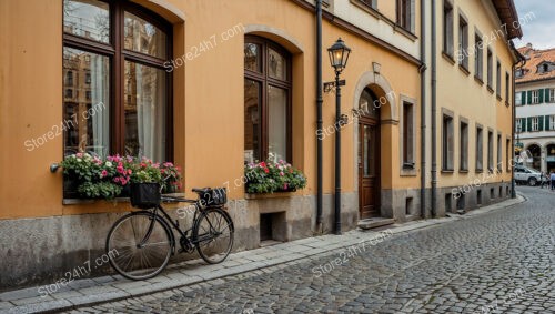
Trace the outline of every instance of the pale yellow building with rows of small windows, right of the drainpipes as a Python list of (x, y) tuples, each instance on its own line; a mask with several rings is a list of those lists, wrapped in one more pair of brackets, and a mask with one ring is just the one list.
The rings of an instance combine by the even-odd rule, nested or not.
[(512, 83), (519, 57), (511, 40), (522, 30), (513, 1), (435, 3), (436, 103), (432, 108), (431, 89), (426, 104), (436, 125), (437, 150), (430, 160), (432, 168), (436, 164), (436, 171), (431, 169), (431, 181), (437, 182), (433, 202), (436, 212), (445, 213), (512, 194)]

